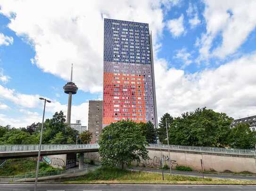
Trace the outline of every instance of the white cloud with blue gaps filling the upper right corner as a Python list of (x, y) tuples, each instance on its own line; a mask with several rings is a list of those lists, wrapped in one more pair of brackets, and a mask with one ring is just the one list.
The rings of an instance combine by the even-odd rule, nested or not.
[[(206, 33), (200, 38), (199, 61), (210, 57), (224, 59), (235, 53), (255, 29), (256, 1), (205, 0), (205, 4)], [(218, 35), (222, 42), (213, 47), (213, 41)]]

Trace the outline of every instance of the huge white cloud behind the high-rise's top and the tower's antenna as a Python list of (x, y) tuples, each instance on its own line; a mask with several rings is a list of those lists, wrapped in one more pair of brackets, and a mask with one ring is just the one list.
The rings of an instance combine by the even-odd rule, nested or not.
[(0, 0), (0, 13), (10, 18), (8, 27), (34, 47), (33, 64), (68, 80), (74, 63), (74, 82), (79, 88), (101, 92), (103, 18), (149, 23), (156, 42), (164, 27), (163, 4), (170, 8), (177, 2), (54, 0), (49, 6), (41, 0)]

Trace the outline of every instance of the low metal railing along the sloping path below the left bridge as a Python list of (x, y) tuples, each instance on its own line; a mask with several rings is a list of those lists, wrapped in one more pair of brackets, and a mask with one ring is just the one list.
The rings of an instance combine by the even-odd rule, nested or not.
[[(89, 168), (82, 168), (82, 169), (68, 169), (68, 170), (58, 170), (54, 172), (39, 172), (38, 177), (50, 177), (50, 176), (56, 176), (56, 175), (66, 175), (66, 174), (74, 174), (74, 173), (90, 173), (98, 168), (99, 166), (89, 167)], [(21, 179), (24, 179), (24, 181), (28, 178), (35, 178), (35, 173), (26, 173), (25, 175), (17, 175), (17, 176), (0, 176), (0, 182), (15, 182)]]

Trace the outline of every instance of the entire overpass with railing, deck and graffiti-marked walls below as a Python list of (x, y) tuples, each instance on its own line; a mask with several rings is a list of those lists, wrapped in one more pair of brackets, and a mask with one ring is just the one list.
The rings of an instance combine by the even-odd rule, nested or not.
[[(0, 145), (0, 159), (34, 157), (38, 155), (38, 148), (39, 145)], [(256, 173), (255, 150), (159, 144), (149, 144), (146, 149), (149, 151), (149, 160), (140, 161), (140, 166), (158, 168), (162, 166), (160, 161), (164, 157), (165, 164), (171, 164), (173, 168), (177, 165), (189, 166), (200, 171), (200, 161), (202, 160), (204, 169), (208, 171), (223, 172), (229, 170)], [(168, 149), (171, 153), (171, 159)], [(75, 153), (80, 153), (79, 168), (83, 167), (84, 157), (100, 162), (98, 151), (98, 144), (42, 145), (41, 147), (41, 155), (45, 157), (56, 159), (55, 157), (66, 154), (66, 160), (64, 159), (66, 165), (70, 164), (72, 157), (76, 160)], [(133, 164), (136, 165), (136, 163)]]

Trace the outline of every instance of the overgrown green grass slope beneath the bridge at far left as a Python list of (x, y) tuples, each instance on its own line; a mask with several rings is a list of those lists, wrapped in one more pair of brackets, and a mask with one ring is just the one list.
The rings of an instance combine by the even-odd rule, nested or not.
[[(0, 176), (16, 176), (27, 172), (35, 172), (37, 160), (34, 158), (8, 159), (0, 167)], [(53, 168), (45, 162), (40, 162), (40, 171), (54, 172), (61, 170)]]

